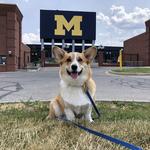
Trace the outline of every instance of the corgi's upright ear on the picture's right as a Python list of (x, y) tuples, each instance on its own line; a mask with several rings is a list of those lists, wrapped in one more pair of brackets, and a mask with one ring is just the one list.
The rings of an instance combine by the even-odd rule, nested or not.
[(84, 54), (85, 58), (88, 60), (88, 62), (91, 63), (97, 54), (97, 48), (94, 46), (90, 47), (90, 48), (86, 49), (83, 52), (83, 54)]

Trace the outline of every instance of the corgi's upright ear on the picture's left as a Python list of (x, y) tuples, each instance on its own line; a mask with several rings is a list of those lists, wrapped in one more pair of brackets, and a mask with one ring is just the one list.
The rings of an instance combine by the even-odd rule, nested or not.
[(53, 54), (54, 54), (54, 57), (55, 57), (56, 61), (58, 63), (60, 63), (63, 60), (66, 52), (63, 49), (61, 49), (57, 46), (54, 46), (52, 51), (53, 51)]

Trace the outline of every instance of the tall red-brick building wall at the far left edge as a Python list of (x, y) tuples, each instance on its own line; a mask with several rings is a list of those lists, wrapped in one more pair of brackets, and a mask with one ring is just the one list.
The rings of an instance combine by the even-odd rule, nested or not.
[(6, 64), (0, 65), (0, 71), (16, 71), (19, 68), (21, 21), (22, 14), (16, 5), (0, 4), (0, 55), (7, 57)]

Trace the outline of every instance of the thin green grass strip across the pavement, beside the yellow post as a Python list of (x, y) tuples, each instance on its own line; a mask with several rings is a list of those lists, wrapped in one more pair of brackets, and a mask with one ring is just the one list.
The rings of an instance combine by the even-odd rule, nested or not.
[(137, 68), (123, 68), (122, 70), (120, 69), (113, 69), (113, 72), (118, 72), (118, 73), (125, 73), (125, 74), (134, 74), (134, 73), (150, 73), (150, 68), (148, 67), (137, 67)]

